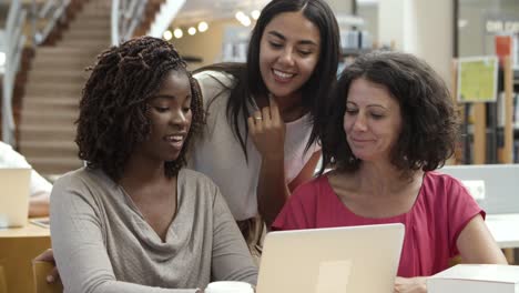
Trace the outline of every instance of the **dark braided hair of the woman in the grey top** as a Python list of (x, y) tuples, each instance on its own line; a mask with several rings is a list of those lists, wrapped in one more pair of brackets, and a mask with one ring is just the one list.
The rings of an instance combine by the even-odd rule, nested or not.
[(191, 138), (204, 124), (199, 84), (186, 70), (176, 49), (161, 39), (142, 37), (112, 47), (90, 68), (75, 121), (79, 158), (88, 168), (103, 170), (112, 180), (121, 179), (136, 144), (150, 134), (149, 101), (171, 71), (190, 79), (192, 123), (179, 159), (165, 163), (165, 174), (174, 176), (185, 165)]

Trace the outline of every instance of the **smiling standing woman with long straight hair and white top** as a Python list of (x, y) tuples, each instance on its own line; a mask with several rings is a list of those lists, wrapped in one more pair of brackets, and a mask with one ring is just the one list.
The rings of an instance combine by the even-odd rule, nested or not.
[(320, 158), (314, 122), (339, 54), (325, 0), (273, 0), (252, 31), (246, 63), (194, 75), (208, 115), (190, 166), (222, 189), (254, 256), (264, 222), (268, 228), (291, 192), (314, 175)]

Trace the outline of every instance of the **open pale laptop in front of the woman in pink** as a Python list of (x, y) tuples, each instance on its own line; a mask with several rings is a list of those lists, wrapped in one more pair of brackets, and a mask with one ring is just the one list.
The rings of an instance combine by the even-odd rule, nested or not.
[(393, 293), (404, 224), (271, 232), (257, 293)]

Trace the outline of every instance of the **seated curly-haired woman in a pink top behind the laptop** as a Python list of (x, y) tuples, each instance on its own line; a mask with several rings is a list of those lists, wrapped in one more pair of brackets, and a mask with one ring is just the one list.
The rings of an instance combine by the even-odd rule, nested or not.
[(434, 172), (452, 154), (458, 125), (429, 65), (405, 53), (360, 57), (332, 101), (319, 132), (320, 176), (295, 191), (275, 230), (404, 223), (395, 292), (426, 292), (424, 276), (458, 254), (467, 263), (506, 263), (468, 191)]

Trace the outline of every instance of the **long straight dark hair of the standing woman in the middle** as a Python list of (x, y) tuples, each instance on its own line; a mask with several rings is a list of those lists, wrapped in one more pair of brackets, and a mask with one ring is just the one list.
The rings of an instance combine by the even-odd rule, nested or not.
[[(267, 95), (268, 90), (260, 71), (260, 44), (265, 27), (278, 14), (302, 11), (305, 18), (319, 30), (320, 53), (318, 62), (308, 81), (299, 89), (303, 97), (303, 107), (311, 113), (312, 122), (318, 119), (318, 112), (327, 103), (329, 90), (336, 81), (337, 65), (340, 55), (339, 30), (334, 12), (324, 0), (273, 0), (263, 10), (254, 27), (248, 43), (246, 63), (218, 63), (201, 68), (196, 72), (214, 70), (225, 72), (235, 79), (226, 107), (227, 119), (233, 128), (245, 158), (245, 148), (248, 135), (247, 118), (251, 115), (247, 104), (253, 97)], [(242, 120), (245, 133), (238, 127)], [(313, 127), (306, 150), (317, 141), (317, 128)]]

